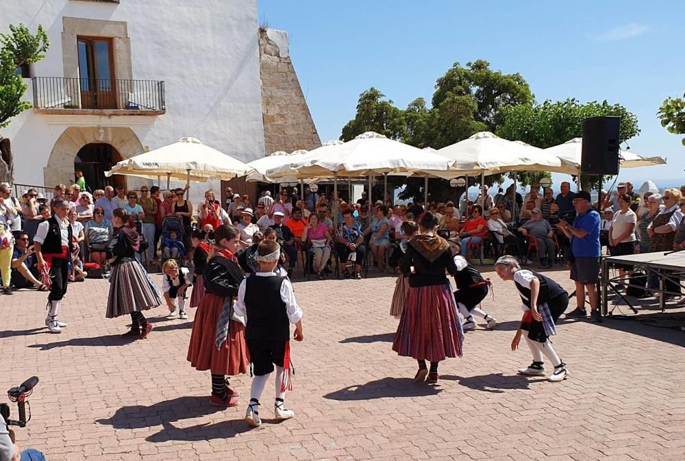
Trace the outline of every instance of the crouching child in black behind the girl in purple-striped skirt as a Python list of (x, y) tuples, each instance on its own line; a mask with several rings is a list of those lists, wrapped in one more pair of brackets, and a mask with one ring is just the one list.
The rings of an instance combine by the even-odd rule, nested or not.
[(449, 242), (454, 255), (454, 264), (457, 266), (457, 273), (454, 274), (454, 283), (457, 290), (454, 292), (454, 300), (457, 303), (459, 312), (462, 313), (466, 320), (462, 323), (464, 331), (467, 329), (475, 329), (476, 323), (473, 320), (473, 315), (477, 315), (485, 319), (487, 322), (487, 329), (493, 329), (497, 326), (497, 319), (483, 312), (480, 308), (480, 303), (488, 295), (488, 288), (490, 288), (490, 280), (483, 279), (475, 267), (471, 266), (464, 256), (460, 254), (460, 247), (455, 242)]

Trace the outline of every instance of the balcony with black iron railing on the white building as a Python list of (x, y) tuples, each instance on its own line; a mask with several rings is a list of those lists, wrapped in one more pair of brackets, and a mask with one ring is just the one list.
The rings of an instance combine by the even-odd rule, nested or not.
[(164, 82), (34, 77), (34, 110), (41, 114), (142, 115), (166, 113)]

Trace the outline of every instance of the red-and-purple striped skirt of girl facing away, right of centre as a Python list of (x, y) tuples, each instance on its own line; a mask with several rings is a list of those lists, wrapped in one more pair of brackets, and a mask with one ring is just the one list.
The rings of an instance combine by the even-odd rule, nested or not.
[(449, 284), (410, 287), (393, 351), (403, 357), (440, 362), (461, 357), (463, 341)]

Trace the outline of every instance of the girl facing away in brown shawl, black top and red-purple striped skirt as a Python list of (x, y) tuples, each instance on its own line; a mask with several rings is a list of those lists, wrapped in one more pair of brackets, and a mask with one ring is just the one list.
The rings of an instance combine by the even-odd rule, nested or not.
[(409, 240), (399, 264), (400, 271), (409, 276), (409, 295), (393, 351), (419, 362), (414, 381), (437, 382), (438, 363), (447, 357), (462, 356), (464, 332), (445, 277), (445, 271), (454, 275), (457, 267), (447, 240), (435, 235), (438, 220), (434, 214), (424, 213), (419, 224), (421, 234)]

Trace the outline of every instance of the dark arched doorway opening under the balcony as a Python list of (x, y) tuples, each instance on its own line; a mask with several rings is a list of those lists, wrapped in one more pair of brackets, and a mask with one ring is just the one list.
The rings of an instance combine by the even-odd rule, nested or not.
[(82, 171), (86, 179), (86, 186), (92, 192), (103, 189), (105, 186), (123, 184), (126, 186), (126, 177), (114, 175), (105, 177), (105, 171), (110, 171), (116, 162), (121, 162), (121, 154), (104, 142), (92, 142), (79, 150), (74, 158), (74, 171)]

